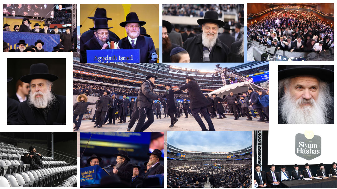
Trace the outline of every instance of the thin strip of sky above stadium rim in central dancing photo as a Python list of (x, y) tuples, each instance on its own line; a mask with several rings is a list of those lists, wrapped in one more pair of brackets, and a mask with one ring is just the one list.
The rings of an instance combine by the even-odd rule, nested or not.
[[(258, 64), (258, 65), (254, 65), (252, 66), (252, 68), (255, 68), (255, 67), (259, 67), (259, 66), (263, 66), (263, 65), (266, 65), (268, 64), (269, 62), (265, 62), (265, 63), (262, 63), (262, 64)], [(222, 68), (231, 68), (231, 67), (234, 67), (236, 65), (240, 65), (240, 64), (243, 64), (243, 63), (167, 63), (168, 65), (173, 65), (173, 66), (178, 66), (178, 67), (181, 67), (181, 68), (190, 68), (190, 69), (195, 69), (195, 70), (208, 70), (208, 71), (212, 71), (214, 70), (215, 68), (215, 65), (216, 64), (220, 64), (220, 66)], [(249, 70), (250, 68), (245, 68), (245, 69), (241, 69), (241, 70), (238, 70), (238, 71), (244, 71), (244, 70)]]

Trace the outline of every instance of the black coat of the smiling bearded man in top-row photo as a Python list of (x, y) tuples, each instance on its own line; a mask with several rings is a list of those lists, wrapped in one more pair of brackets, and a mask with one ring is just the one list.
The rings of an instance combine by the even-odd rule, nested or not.
[[(190, 54), (191, 62), (204, 62), (202, 34), (186, 39), (183, 48)], [(228, 52), (227, 45), (217, 38), (210, 54), (210, 62), (227, 62)]]

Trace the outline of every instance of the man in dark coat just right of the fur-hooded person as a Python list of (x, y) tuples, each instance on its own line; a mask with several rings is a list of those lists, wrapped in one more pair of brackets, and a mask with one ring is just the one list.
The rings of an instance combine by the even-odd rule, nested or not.
[(105, 114), (108, 111), (108, 104), (113, 103), (113, 100), (108, 94), (110, 94), (110, 92), (106, 90), (103, 92), (103, 95), (98, 98), (100, 101), (96, 110), (96, 125), (94, 127), (101, 128), (103, 126)]

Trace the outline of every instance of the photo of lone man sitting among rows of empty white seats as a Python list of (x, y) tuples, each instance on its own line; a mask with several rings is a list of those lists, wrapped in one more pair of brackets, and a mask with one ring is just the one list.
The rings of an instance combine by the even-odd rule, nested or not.
[[(34, 139), (29, 139), (0, 133), (0, 187), (77, 187), (76, 156), (67, 154), (66, 150), (59, 152), (42, 145), (35, 147), (33, 141), (54, 143), (53, 137), (47, 141), (43, 139), (47, 134), (42, 133), (46, 136), (41, 138), (38, 137), (39, 134), (41, 133), (31, 134)], [(30, 146), (30, 149), (27, 150), (26, 146)]]

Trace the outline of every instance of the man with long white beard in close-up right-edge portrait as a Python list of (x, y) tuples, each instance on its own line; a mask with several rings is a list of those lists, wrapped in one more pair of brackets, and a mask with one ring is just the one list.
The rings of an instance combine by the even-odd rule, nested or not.
[(333, 124), (329, 84), (334, 72), (320, 65), (287, 65), (279, 71), (279, 124)]

